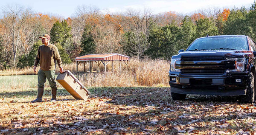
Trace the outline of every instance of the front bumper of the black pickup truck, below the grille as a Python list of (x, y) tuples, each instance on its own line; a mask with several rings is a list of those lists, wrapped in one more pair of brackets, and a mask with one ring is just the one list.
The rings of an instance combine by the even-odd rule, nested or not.
[(169, 74), (171, 91), (180, 94), (245, 95), (247, 80), (247, 73), (225, 73), (221, 76)]

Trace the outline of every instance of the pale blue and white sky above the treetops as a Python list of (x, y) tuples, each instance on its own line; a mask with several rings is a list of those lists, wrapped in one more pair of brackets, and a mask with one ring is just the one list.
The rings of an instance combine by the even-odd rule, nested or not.
[(126, 9), (149, 8), (154, 14), (175, 11), (180, 14), (207, 8), (250, 8), (254, 0), (1, 0), (1, 6), (18, 4), (32, 8), (42, 14), (58, 15), (64, 18), (74, 16), (78, 6), (96, 6), (102, 13), (125, 12)]

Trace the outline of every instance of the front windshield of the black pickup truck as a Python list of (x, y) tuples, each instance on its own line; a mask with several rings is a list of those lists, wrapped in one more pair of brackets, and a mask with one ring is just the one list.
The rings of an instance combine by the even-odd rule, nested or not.
[(187, 51), (249, 50), (246, 37), (208, 37), (196, 39)]

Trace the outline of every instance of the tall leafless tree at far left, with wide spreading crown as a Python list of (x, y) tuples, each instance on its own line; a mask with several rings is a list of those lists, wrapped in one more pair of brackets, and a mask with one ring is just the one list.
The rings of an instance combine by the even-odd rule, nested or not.
[(25, 8), (23, 6), (5, 6), (2, 8), (3, 19), (1, 23), (9, 28), (11, 34), (11, 44), (13, 52), (14, 67), (16, 67), (16, 56), (17, 47), (19, 45), (20, 31), (23, 28), (24, 23), (26, 23), (30, 13), (30, 8)]

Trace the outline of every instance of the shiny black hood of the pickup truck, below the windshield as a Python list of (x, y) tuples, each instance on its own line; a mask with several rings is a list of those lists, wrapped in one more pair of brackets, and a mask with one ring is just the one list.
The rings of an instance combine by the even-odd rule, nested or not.
[(172, 56), (172, 59), (177, 59), (181, 57), (193, 57), (193, 56), (224, 56), (224, 57), (245, 57), (253, 55), (252, 51), (239, 51), (239, 50), (232, 50), (232, 51), (183, 51), (177, 55)]

